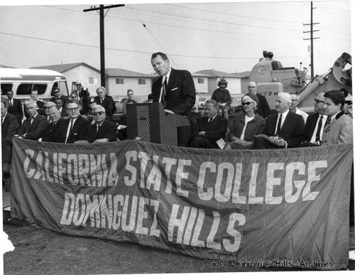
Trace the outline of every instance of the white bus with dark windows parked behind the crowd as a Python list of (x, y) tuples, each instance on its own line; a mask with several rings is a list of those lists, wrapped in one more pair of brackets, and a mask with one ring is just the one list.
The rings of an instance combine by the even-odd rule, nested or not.
[(38, 90), (38, 99), (44, 101), (54, 96), (57, 87), (62, 95), (70, 95), (65, 76), (54, 70), (0, 68), (0, 85), (1, 97), (6, 97), (6, 92), (12, 90), (13, 97), (21, 102), (30, 98), (33, 88)]

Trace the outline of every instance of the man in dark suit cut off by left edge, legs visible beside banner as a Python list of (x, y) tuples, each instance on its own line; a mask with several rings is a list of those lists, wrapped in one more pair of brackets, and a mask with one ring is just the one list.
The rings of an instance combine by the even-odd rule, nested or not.
[(2, 176), (6, 191), (11, 191), (12, 138), (15, 134), (18, 134), (18, 120), (7, 111), (4, 102), (1, 102)]

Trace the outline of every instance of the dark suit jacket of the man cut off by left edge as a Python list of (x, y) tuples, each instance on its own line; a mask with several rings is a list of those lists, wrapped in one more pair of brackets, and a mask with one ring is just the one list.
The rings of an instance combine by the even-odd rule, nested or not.
[(18, 120), (8, 112), (1, 125), (2, 161), (5, 163), (11, 163), (12, 138), (15, 134), (18, 134)]

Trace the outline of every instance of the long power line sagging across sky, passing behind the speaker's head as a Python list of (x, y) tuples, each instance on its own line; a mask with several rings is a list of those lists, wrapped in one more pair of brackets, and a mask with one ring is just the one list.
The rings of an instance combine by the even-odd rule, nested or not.
[[(30, 38), (30, 39), (35, 39), (38, 41), (47, 41), (47, 42), (54, 42), (54, 43), (60, 43), (60, 44), (66, 44), (66, 45), (77, 45), (77, 46), (82, 46), (82, 47), (87, 47), (87, 48), (100, 48), (99, 46), (95, 45), (86, 45), (82, 43), (72, 43), (72, 42), (63, 42), (63, 41), (55, 41), (53, 39), (47, 39), (47, 38), (36, 38), (33, 36), (22, 36), (19, 34), (14, 34), (14, 33), (4, 33), (0, 32), (0, 34), (6, 35), (6, 36), (16, 36), (16, 37), (21, 37), (21, 38)], [(118, 51), (123, 51), (123, 52), (128, 52), (128, 53), (143, 53), (143, 54), (149, 54), (151, 55), (151, 52), (146, 52), (146, 51), (141, 51), (141, 50), (125, 50), (125, 49), (120, 49), (120, 48), (105, 48), (107, 50), (118, 50)], [(173, 56), (178, 56), (178, 57), (183, 57), (183, 58), (210, 58), (210, 59), (257, 59), (260, 58), (258, 57), (230, 57), (230, 56), (202, 56), (202, 55), (175, 55), (173, 53), (169, 53), (169, 55)], [(297, 56), (280, 56), (278, 58), (300, 58), (305, 55), (297, 55)]]

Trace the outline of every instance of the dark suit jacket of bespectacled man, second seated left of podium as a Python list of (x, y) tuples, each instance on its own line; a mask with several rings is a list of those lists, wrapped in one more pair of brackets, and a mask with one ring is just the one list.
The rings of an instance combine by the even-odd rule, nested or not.
[[(70, 119), (65, 119), (63, 125), (64, 126), (63, 126), (62, 136), (60, 138), (60, 142), (65, 143), (65, 136), (67, 136), (67, 128), (70, 125)], [(90, 126), (89, 120), (79, 115), (79, 117), (77, 117), (77, 120), (75, 120), (74, 125), (72, 126), (72, 130), (69, 133), (69, 136), (67, 138), (67, 144), (73, 144), (75, 141), (82, 141), (82, 140), (89, 141), (90, 140), (89, 126)]]

